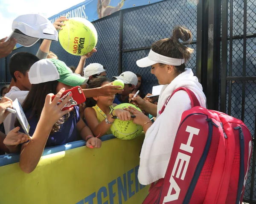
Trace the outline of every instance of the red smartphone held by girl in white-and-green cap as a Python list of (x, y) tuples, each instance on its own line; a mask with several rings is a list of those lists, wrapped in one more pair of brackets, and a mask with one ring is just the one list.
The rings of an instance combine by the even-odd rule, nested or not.
[[(62, 108), (63, 110), (70, 109), (73, 106), (79, 105), (80, 103), (84, 103), (86, 100), (84, 97), (84, 93), (80, 86), (76, 86), (72, 89), (68, 89), (61, 95), (61, 98), (58, 100), (58, 105), (71, 93), (73, 93), (73, 96), (70, 98), (70, 100), (67, 102), (67, 104)], [(55, 98), (56, 95), (52, 96), (52, 100)]]

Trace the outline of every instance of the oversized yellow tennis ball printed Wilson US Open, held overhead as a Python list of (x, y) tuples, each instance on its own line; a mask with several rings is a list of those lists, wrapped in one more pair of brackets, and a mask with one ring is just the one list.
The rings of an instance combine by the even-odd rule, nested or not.
[(74, 17), (63, 22), (58, 33), (61, 46), (72, 55), (85, 55), (91, 52), (97, 44), (98, 34), (90, 21)]

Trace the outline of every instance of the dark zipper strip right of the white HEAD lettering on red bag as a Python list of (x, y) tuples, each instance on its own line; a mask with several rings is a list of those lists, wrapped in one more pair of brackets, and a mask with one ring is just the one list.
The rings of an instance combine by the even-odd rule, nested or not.
[[(207, 141), (206, 141), (206, 144), (205, 144), (205, 147), (204, 147), (204, 152), (203, 152), (203, 154), (202, 154), (202, 156), (201, 156), (201, 158), (198, 162), (198, 165), (195, 169), (194, 176), (193, 176), (193, 178), (191, 180), (191, 183), (189, 185), (189, 189), (188, 189), (188, 191), (186, 193), (186, 196), (183, 200), (183, 204), (188, 204), (190, 199), (191, 199), (191, 196), (192, 196), (192, 194), (195, 190), (195, 185), (197, 184), (198, 178), (199, 178), (199, 176), (201, 174), (201, 171), (204, 167), (204, 162), (207, 158), (207, 155), (208, 155), (208, 152), (209, 152), (209, 149), (210, 149), (210, 144), (212, 142), (212, 129), (213, 129), (212, 125), (215, 124), (215, 123), (212, 121), (212, 119), (210, 119), (208, 117), (207, 117), (206, 121), (208, 121), (208, 124), (209, 124), (208, 138), (207, 138)], [(215, 124), (214, 126), (217, 126), (217, 125)]]

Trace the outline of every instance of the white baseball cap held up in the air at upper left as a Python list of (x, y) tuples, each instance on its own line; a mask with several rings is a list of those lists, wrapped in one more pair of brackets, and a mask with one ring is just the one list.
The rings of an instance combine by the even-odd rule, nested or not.
[(29, 47), (34, 45), (40, 38), (58, 41), (58, 32), (53, 24), (39, 14), (25, 14), (18, 16), (12, 22), (11, 37), (17, 39), (17, 43)]

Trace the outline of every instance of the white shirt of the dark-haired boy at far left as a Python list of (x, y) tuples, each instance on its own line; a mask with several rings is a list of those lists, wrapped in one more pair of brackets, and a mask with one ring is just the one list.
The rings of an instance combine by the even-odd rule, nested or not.
[[(12, 101), (15, 101), (15, 99), (17, 98), (20, 105), (22, 105), (28, 93), (29, 91), (20, 91), (17, 86), (12, 86), (11, 90), (5, 96), (12, 99)], [(9, 115), (7, 115), (6, 119), (3, 121), (6, 135), (8, 134), (8, 132), (15, 128), (15, 119), (16, 115), (13, 113), (9, 113)]]

